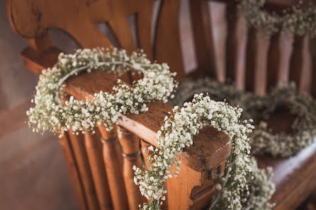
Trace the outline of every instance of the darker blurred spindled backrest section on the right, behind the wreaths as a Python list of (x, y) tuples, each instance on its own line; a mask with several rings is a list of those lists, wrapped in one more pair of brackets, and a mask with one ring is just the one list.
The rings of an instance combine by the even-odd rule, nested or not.
[[(225, 75), (225, 81), (232, 81), (237, 88), (259, 95), (264, 95), (274, 86), (295, 81), (300, 92), (307, 91), (316, 96), (315, 39), (282, 33), (268, 37), (259, 29), (247, 28), (237, 1), (221, 1), (226, 7), (226, 20), (222, 21), (226, 24), (223, 27), (226, 31), (220, 32), (226, 35), (225, 49), (222, 49), (225, 57), (222, 59), (214, 59), (218, 43), (210, 38), (215, 29), (209, 16), (212, 9), (208, 11), (212, 5), (205, 6), (205, 1), (190, 1), (198, 66), (207, 66), (208, 69), (225, 66), (213, 70), (219, 81), (223, 81), (220, 75)], [(267, 2), (264, 9), (276, 12), (298, 4), (298, 1)], [(195, 21), (198, 16), (202, 17), (200, 22)], [(208, 59), (203, 58), (205, 52), (208, 52)], [(222, 65), (216, 65), (218, 62)]]

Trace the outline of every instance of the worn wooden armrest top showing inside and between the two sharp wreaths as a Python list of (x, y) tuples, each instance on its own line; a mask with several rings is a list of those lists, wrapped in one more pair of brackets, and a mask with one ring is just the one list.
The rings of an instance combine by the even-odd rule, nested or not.
[[(93, 99), (94, 93), (111, 91), (115, 81), (111, 74), (93, 71), (90, 74), (83, 73), (70, 78), (65, 91), (79, 100)], [(157, 146), (157, 132), (172, 107), (160, 101), (149, 103), (147, 106), (148, 112), (139, 115), (121, 115), (119, 124), (141, 139)], [(182, 155), (184, 162), (194, 170), (210, 170), (230, 156), (230, 140), (224, 133), (211, 127), (195, 136), (194, 142), (195, 145), (186, 148)], [(199, 156), (201, 153), (203, 153), (202, 157)]]

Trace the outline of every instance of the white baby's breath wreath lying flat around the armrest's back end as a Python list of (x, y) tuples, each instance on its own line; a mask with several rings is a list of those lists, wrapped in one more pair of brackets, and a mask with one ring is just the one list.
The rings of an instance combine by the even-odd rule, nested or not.
[[(62, 105), (62, 83), (69, 76), (94, 69), (117, 74), (135, 69), (144, 77), (132, 83), (132, 87), (119, 80), (111, 93), (96, 93), (94, 100), (79, 101), (71, 97), (65, 106)], [(85, 130), (93, 132), (101, 122), (112, 129), (121, 113), (146, 112), (146, 103), (167, 101), (177, 86), (174, 76), (167, 64), (150, 63), (142, 51), (133, 52), (130, 57), (124, 49), (115, 48), (112, 51), (96, 48), (78, 49), (74, 54), (61, 53), (57, 64), (40, 75), (32, 100), (35, 107), (27, 112), (29, 125), (34, 127), (34, 132), (50, 130), (61, 135), (70, 127), (76, 134)]]

